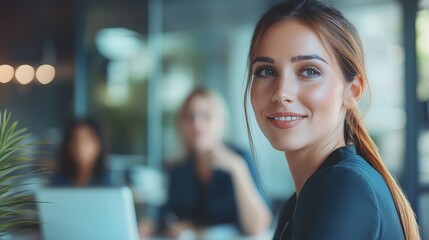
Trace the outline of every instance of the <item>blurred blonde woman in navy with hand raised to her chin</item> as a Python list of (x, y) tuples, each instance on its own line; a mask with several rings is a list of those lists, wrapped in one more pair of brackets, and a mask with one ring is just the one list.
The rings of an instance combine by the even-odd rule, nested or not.
[(195, 89), (180, 109), (178, 127), (187, 155), (170, 172), (170, 214), (164, 218), (170, 236), (224, 224), (254, 235), (271, 223), (249, 158), (222, 143), (224, 124), (221, 100), (206, 89)]

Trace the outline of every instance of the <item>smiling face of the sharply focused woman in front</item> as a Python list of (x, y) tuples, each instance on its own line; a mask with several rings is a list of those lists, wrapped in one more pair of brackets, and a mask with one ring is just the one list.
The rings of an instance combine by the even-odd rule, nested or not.
[(343, 139), (345, 82), (318, 35), (298, 20), (281, 21), (255, 50), (251, 102), (271, 145), (291, 152)]

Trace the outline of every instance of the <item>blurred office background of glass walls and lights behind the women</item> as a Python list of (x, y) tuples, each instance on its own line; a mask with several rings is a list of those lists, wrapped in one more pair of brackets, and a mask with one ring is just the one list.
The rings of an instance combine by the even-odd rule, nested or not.
[[(248, 148), (246, 54), (255, 22), (276, 2), (2, 1), (0, 110), (10, 110), (35, 139), (53, 142), (38, 159), (48, 169), (65, 125), (94, 117), (105, 130), (116, 181), (126, 181), (127, 173), (142, 202), (161, 204), (159, 176), (181, 152), (175, 113), (194, 86), (223, 95), (230, 112), (226, 141)], [(365, 121), (428, 238), (429, 1), (331, 2), (361, 34), (372, 96), (362, 104)], [(38, 70), (45, 64), (55, 69), (52, 81)], [(16, 72), (30, 67), (21, 68), (23, 78), (9, 78), (6, 65)], [(31, 68), (39, 75), (26, 80)], [(282, 201), (293, 191), (286, 161), (253, 130), (261, 181), (272, 200)], [(159, 184), (148, 186), (149, 180)]]

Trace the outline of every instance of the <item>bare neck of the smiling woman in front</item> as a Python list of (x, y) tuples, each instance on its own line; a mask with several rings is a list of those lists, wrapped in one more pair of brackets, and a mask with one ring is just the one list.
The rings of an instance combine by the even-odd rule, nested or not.
[(316, 172), (329, 154), (342, 146), (345, 146), (345, 142), (341, 138), (337, 141), (318, 142), (306, 148), (285, 153), (297, 197), (307, 179)]

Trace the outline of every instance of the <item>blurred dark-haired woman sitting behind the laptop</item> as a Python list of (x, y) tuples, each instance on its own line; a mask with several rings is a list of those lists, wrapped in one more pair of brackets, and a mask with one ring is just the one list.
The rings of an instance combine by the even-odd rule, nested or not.
[(98, 124), (90, 119), (75, 120), (64, 133), (52, 185), (110, 185), (105, 164), (106, 147)]

